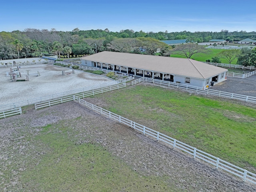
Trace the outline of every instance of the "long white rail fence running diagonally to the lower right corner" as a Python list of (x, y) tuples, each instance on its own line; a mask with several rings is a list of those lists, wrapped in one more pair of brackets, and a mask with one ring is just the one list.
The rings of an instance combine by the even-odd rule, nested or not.
[(91, 104), (89, 102), (86, 102), (85, 100), (82, 100), (76, 96), (73, 97), (75, 101), (79, 102), (80, 104), (86, 106), (87, 108), (93, 110), (94, 112), (97, 112), (103, 116), (106, 116), (108, 118), (112, 118), (113, 120), (120, 122), (122, 124), (125, 124), (127, 126), (130, 126), (131, 128), (134, 128), (135, 130), (142, 132), (143, 134), (147, 134), (149, 136), (152, 136), (156, 140), (165, 142), (167, 144), (170, 144), (173, 148), (178, 148), (184, 152), (187, 152), (188, 154), (194, 156), (194, 158), (199, 158), (205, 162), (208, 162), (209, 164), (212, 164), (216, 167), (216, 169), (220, 168), (223, 169), (231, 174), (234, 174), (240, 178), (242, 178), (244, 181), (251, 182), (253, 184), (256, 184), (256, 174), (249, 172), (246, 169), (240, 168), (234, 164), (231, 164), (229, 162), (226, 162), (220, 158), (217, 158), (211, 154), (208, 154), (202, 150), (198, 150), (188, 144), (185, 144), (183, 142), (180, 142), (174, 138), (171, 138), (167, 135), (164, 135), (158, 131), (152, 130), (146, 126), (143, 126), (141, 124), (138, 124), (132, 120), (129, 120), (127, 118), (124, 118), (120, 115), (114, 114), (108, 110), (105, 110), (101, 107), (98, 107), (94, 104)]

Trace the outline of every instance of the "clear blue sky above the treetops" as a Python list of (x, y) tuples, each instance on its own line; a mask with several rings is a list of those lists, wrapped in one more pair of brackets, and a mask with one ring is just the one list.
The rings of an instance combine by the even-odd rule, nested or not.
[(256, 31), (256, 0), (6, 0), (0, 32), (132, 29), (144, 32)]

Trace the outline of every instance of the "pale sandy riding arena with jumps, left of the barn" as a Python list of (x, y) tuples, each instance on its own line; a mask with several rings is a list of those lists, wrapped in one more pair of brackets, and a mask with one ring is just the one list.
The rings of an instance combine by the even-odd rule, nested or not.
[[(12, 68), (17, 69), (17, 67)], [(71, 72), (71, 74), (62, 75), (62, 70)], [(20, 72), (22, 79), (26, 79), (26, 75), (29, 73), (29, 81), (13, 82), (11, 77), (6, 75), (6, 72), (10, 72), (10, 67), (0, 68), (0, 105), (50, 96), (70, 90), (82, 88), (90, 90), (93, 87), (100, 88), (115, 84), (114, 80), (104, 76), (79, 70), (75, 70), (75, 74), (72, 74), (71, 68), (63, 68), (52, 64), (20, 66), (16, 72)]]

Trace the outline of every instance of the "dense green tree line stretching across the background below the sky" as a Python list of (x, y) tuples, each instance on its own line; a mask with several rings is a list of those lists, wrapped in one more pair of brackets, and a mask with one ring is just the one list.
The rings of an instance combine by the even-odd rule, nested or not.
[[(133, 30), (121, 30), (110, 32), (110, 30), (79, 30), (75, 28), (71, 32), (51, 30), (38, 30), (27, 28), (24, 31), (0, 32), (0, 59), (38, 57), (41, 53), (56, 54), (59, 58), (69, 58), (90, 55), (104, 50), (116, 52), (133, 52), (145, 54), (156, 54), (160, 50), (160, 56), (181, 54), (190, 58), (193, 54), (206, 52), (202, 46), (195, 43), (180, 46), (167, 46), (160, 40), (187, 39), (190, 42), (209, 42), (211, 39), (225, 39), (229, 41), (244, 38), (256, 38), (256, 32), (134, 32)], [(251, 65), (254, 50), (242, 50), (235, 54), (239, 64)], [(219, 54), (212, 61), (218, 61), (218, 57), (225, 58)], [(230, 60), (228, 60), (230, 62)]]

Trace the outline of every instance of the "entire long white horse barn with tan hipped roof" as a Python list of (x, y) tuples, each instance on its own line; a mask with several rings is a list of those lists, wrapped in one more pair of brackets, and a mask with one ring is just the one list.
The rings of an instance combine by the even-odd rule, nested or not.
[(82, 57), (82, 65), (206, 88), (228, 70), (187, 58), (103, 51)]

